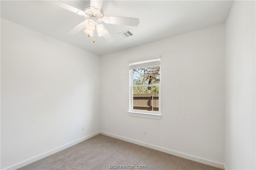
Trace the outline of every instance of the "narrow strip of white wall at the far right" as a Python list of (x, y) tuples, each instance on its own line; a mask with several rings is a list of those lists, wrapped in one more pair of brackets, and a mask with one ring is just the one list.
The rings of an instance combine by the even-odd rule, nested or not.
[(227, 169), (256, 169), (255, 1), (235, 1), (226, 20)]

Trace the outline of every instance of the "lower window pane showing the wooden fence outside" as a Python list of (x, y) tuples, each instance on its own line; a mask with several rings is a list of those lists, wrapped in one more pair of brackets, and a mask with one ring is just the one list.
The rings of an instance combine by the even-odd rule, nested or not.
[(159, 87), (134, 87), (133, 109), (158, 111), (159, 110)]

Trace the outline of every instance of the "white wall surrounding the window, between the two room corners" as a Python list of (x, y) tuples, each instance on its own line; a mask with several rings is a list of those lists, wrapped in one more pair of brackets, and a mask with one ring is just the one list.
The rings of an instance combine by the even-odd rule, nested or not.
[[(224, 37), (220, 24), (102, 56), (102, 131), (224, 164)], [(162, 118), (129, 116), (128, 63), (154, 55)]]

